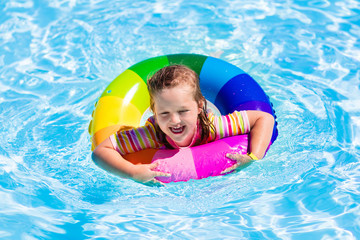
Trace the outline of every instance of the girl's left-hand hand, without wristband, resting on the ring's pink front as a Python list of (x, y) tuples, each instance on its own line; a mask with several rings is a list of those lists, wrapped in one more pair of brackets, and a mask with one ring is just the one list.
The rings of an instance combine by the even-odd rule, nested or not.
[(162, 182), (155, 179), (155, 177), (170, 177), (170, 173), (153, 171), (159, 163), (140, 164), (135, 165), (135, 171), (132, 175), (132, 179), (137, 182), (143, 183), (149, 186), (165, 186)]

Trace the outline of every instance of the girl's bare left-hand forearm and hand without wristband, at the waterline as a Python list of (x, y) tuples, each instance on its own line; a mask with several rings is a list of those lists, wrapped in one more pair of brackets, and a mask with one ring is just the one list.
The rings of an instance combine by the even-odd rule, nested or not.
[(95, 164), (108, 172), (141, 183), (159, 183), (155, 177), (170, 176), (168, 173), (153, 171), (157, 167), (156, 163), (139, 165), (130, 163), (114, 149), (110, 138), (105, 139), (95, 148), (92, 159)]

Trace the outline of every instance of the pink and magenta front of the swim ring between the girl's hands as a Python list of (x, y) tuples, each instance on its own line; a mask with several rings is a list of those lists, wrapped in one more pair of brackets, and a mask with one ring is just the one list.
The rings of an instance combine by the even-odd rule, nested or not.
[(225, 154), (246, 154), (247, 147), (248, 135), (238, 135), (191, 148), (158, 150), (153, 162), (160, 165), (155, 170), (171, 173), (171, 177), (157, 179), (169, 183), (219, 176), (236, 163)]

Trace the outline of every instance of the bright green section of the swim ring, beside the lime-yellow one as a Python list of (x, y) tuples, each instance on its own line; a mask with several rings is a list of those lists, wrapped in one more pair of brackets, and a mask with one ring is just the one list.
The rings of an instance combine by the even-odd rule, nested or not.
[(155, 72), (165, 66), (169, 66), (169, 61), (166, 55), (146, 59), (131, 66), (129, 69), (136, 72), (146, 83)]

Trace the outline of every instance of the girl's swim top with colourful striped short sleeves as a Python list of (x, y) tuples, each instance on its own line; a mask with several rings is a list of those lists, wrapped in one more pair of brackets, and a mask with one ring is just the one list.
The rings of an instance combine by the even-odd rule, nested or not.
[[(215, 126), (215, 132), (211, 129), (207, 142), (250, 132), (250, 124), (246, 111), (235, 111), (225, 116), (215, 116), (210, 113), (208, 117)], [(154, 117), (150, 117), (145, 123), (145, 126), (116, 132), (110, 136), (114, 149), (121, 155), (125, 155), (147, 148), (165, 148), (164, 144), (159, 142), (154, 125), (155, 119)], [(200, 137), (200, 131), (198, 127), (196, 138)], [(194, 142), (196, 141), (193, 141), (192, 144)], [(169, 141), (169, 143), (174, 148), (179, 148), (174, 146), (171, 141)], [(192, 144), (190, 144), (190, 146), (192, 146)]]

